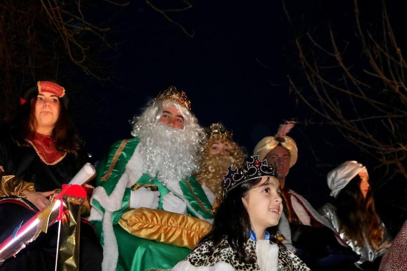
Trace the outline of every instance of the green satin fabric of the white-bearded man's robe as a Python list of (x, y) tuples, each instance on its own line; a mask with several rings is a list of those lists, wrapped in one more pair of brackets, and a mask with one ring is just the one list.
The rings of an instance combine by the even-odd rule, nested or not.
[[(114, 158), (114, 154), (116, 153), (116, 150), (120, 146), (121, 142), (122, 141), (116, 142), (110, 148), (109, 154), (101, 161), (96, 169), (97, 185), (103, 186), (108, 195), (112, 193), (120, 177), (125, 172), (125, 166), (133, 155), (139, 140), (130, 139), (126, 143), (123, 151), (120, 153), (114, 169), (112, 170), (111, 175), (106, 181), (101, 181), (101, 178), (105, 176), (109, 170)], [(162, 209), (162, 196), (169, 193), (168, 189), (163, 186), (162, 183), (157, 180), (157, 178), (151, 178), (147, 174), (143, 174), (137, 183), (156, 184), (158, 186), (158, 190), (161, 193), (159, 209)], [(199, 213), (204, 218), (213, 218), (212, 214), (208, 212), (208, 210), (212, 209), (212, 206), (210, 205), (204, 190), (201, 188), (197, 180), (191, 177), (188, 182), (181, 181), (179, 184), (182, 192), (184, 193), (184, 197), (192, 206), (192, 209), (188, 206), (188, 215), (195, 217), (197, 216), (196, 213)], [(173, 245), (133, 236), (123, 230), (123, 228), (117, 224), (123, 213), (129, 210), (127, 206), (129, 204), (130, 191), (130, 188), (125, 190), (122, 200), (122, 208), (116, 212), (113, 212), (112, 216), (114, 233), (117, 238), (119, 249), (119, 260), (116, 270), (171, 269), (175, 264), (177, 264), (177, 262), (183, 260), (191, 252), (191, 250), (186, 247), (176, 247)], [(197, 199), (199, 199), (199, 202)], [(104, 212), (103, 208), (96, 200), (93, 200), (92, 204)], [(206, 210), (203, 210), (201, 206), (203, 206)], [(101, 222), (92, 221), (92, 223), (95, 225), (98, 235), (101, 238), (101, 243), (103, 244)]]

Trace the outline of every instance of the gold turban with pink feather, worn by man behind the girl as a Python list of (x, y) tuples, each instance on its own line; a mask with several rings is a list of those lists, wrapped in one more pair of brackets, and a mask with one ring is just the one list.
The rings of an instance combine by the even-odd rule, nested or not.
[(289, 136), (285, 136), (282, 138), (265, 137), (262, 140), (260, 140), (259, 143), (257, 143), (256, 147), (254, 147), (253, 154), (260, 156), (259, 160), (263, 160), (264, 158), (266, 158), (269, 152), (271, 152), (272, 150), (274, 150), (275, 147), (277, 147), (278, 144), (282, 145), (289, 152), (290, 167), (292, 167), (297, 162), (298, 149), (294, 139), (292, 139)]

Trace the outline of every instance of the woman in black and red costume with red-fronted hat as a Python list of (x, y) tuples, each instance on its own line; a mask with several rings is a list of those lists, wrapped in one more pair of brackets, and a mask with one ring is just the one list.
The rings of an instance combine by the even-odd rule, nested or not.
[[(20, 103), (15, 120), (2, 127), (0, 138), (0, 243), (44, 208), (48, 197), (67, 184), (88, 159), (69, 119), (63, 87), (39, 81), (23, 93)], [(6, 260), (0, 270), (53, 270), (56, 248), (54, 224), (47, 234)], [(79, 267), (101, 270), (101, 261), (96, 233), (90, 223), (83, 222)]]

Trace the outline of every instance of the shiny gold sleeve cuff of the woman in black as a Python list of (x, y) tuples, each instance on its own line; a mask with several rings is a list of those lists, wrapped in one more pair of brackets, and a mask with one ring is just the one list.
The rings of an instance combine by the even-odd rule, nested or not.
[(35, 192), (34, 183), (20, 180), (13, 175), (1, 177), (0, 197), (18, 196), (26, 198), (23, 190)]

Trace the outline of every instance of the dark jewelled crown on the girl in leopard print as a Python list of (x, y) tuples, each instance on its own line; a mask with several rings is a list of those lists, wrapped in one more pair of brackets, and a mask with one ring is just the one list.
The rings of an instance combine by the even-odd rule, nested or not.
[(242, 168), (235, 167), (232, 169), (232, 165), (228, 167), (228, 173), (222, 178), (223, 195), (249, 180), (261, 177), (278, 179), (277, 169), (269, 165), (266, 159), (260, 161), (258, 157), (258, 155), (250, 156), (251, 161), (246, 161)]

